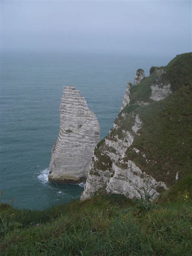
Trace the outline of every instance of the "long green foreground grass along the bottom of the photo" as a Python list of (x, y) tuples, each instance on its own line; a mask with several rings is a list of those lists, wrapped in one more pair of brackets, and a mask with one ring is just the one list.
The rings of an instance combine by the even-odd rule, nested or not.
[(191, 201), (140, 211), (123, 196), (96, 196), (45, 211), (0, 209), (7, 227), (19, 223), (1, 233), (0, 255), (192, 253)]

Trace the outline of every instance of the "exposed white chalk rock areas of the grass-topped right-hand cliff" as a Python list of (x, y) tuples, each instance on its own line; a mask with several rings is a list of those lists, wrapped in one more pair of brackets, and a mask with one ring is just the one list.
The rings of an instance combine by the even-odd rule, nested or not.
[[(160, 83), (163, 71), (155, 70), (155, 68), (153, 71), (157, 71), (156, 83), (151, 84), (149, 98), (158, 101), (168, 96), (171, 89), (169, 85), (162, 86)], [(137, 70), (134, 85), (140, 86), (139, 83), (143, 77), (144, 71)], [(130, 105), (130, 100), (130, 83), (128, 82), (121, 110)], [(134, 105), (145, 106), (149, 105), (149, 102), (136, 100), (132, 102), (131, 106)], [(100, 190), (107, 194), (124, 194), (129, 198), (140, 198), (147, 191), (154, 199), (158, 196), (160, 189), (167, 189), (164, 182), (156, 181), (150, 174), (142, 171), (126, 154), (134, 139), (140, 135), (139, 131), (142, 126), (143, 121), (138, 113), (134, 111), (119, 113), (107, 137), (94, 150), (81, 200), (94, 196)], [(142, 154), (146, 162), (150, 161), (137, 148), (134, 151), (137, 154)]]

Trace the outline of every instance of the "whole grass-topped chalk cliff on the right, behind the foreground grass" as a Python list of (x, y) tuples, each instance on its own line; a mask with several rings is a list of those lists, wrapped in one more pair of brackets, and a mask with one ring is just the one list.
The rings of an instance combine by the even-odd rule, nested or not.
[(140, 83), (128, 82), (122, 111), (94, 149), (82, 200), (99, 191), (155, 198), (190, 172), (191, 68), (192, 54), (182, 54)]

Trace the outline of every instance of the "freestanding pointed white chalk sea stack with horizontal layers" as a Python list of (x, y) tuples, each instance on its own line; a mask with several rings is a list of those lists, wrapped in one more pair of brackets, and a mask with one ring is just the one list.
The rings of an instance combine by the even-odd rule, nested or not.
[(49, 181), (77, 183), (85, 181), (94, 147), (100, 140), (96, 115), (74, 86), (63, 88), (60, 104), (60, 131), (54, 143)]

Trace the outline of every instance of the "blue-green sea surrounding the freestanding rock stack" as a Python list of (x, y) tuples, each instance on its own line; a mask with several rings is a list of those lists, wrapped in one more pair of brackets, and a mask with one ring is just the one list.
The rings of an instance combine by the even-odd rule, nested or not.
[(59, 132), (62, 87), (75, 85), (100, 122), (101, 139), (120, 111), (138, 68), (174, 56), (104, 53), (1, 53), (0, 190), (2, 201), (43, 209), (78, 199), (83, 184), (49, 183), (51, 148)]

